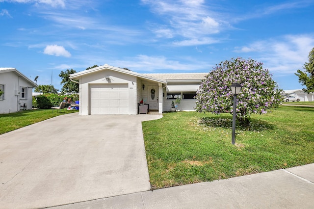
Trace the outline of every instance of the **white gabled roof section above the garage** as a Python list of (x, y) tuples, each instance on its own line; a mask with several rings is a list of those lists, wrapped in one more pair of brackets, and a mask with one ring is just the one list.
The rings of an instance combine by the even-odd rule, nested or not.
[(76, 78), (79, 78), (81, 76), (84, 76), (84, 75), (87, 75), (87, 74), (90, 74), (90, 73), (95, 73), (95, 72), (98, 72), (98, 71), (102, 71), (102, 70), (105, 70), (105, 69), (113, 70), (113, 71), (117, 71), (117, 72), (121, 72), (121, 73), (125, 73), (125, 74), (136, 76), (136, 77), (139, 77), (139, 78), (145, 78), (145, 79), (149, 79), (149, 80), (153, 80), (153, 81), (157, 81), (157, 82), (161, 82), (161, 83), (166, 83), (166, 81), (163, 80), (163, 79), (149, 77), (149, 76), (146, 76), (145, 74), (139, 74), (139, 73), (136, 73), (136, 72), (133, 72), (133, 71), (130, 71), (130, 70), (125, 70), (125, 69), (122, 69), (122, 68), (113, 67), (113, 66), (110, 66), (108, 64), (105, 64), (105, 65), (102, 65), (102, 66), (99, 66), (99, 67), (96, 67), (96, 68), (91, 68), (91, 69), (88, 69), (88, 70), (84, 70), (84, 71), (81, 71), (81, 72), (78, 72), (78, 73), (71, 74), (70, 78), (76, 79)]

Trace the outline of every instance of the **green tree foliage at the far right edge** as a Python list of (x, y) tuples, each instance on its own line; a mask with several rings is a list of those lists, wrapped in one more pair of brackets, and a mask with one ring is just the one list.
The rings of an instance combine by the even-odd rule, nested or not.
[(299, 82), (306, 86), (303, 91), (307, 93), (314, 92), (314, 48), (309, 53), (309, 62), (306, 62), (302, 67), (304, 71), (297, 70), (296, 76), (299, 77)]

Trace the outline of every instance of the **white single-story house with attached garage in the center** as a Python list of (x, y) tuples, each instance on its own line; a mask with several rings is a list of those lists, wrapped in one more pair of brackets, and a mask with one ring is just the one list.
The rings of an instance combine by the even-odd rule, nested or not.
[(162, 113), (181, 97), (178, 109), (194, 110), (194, 96), (207, 74), (139, 74), (105, 64), (71, 74), (70, 79), (79, 83), (80, 115), (136, 115), (142, 100), (149, 111)]

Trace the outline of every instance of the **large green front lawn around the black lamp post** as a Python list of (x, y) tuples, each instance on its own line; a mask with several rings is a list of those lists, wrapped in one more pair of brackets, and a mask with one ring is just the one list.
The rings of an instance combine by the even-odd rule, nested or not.
[(280, 106), (252, 115), (251, 127), (232, 115), (173, 112), (143, 122), (152, 188), (226, 179), (314, 162), (314, 108)]

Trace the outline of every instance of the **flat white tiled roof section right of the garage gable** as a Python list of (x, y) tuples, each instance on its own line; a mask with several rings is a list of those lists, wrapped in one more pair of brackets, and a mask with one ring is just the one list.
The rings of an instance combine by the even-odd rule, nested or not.
[(142, 74), (152, 78), (162, 79), (166, 81), (170, 80), (203, 80), (209, 73), (150, 73)]

